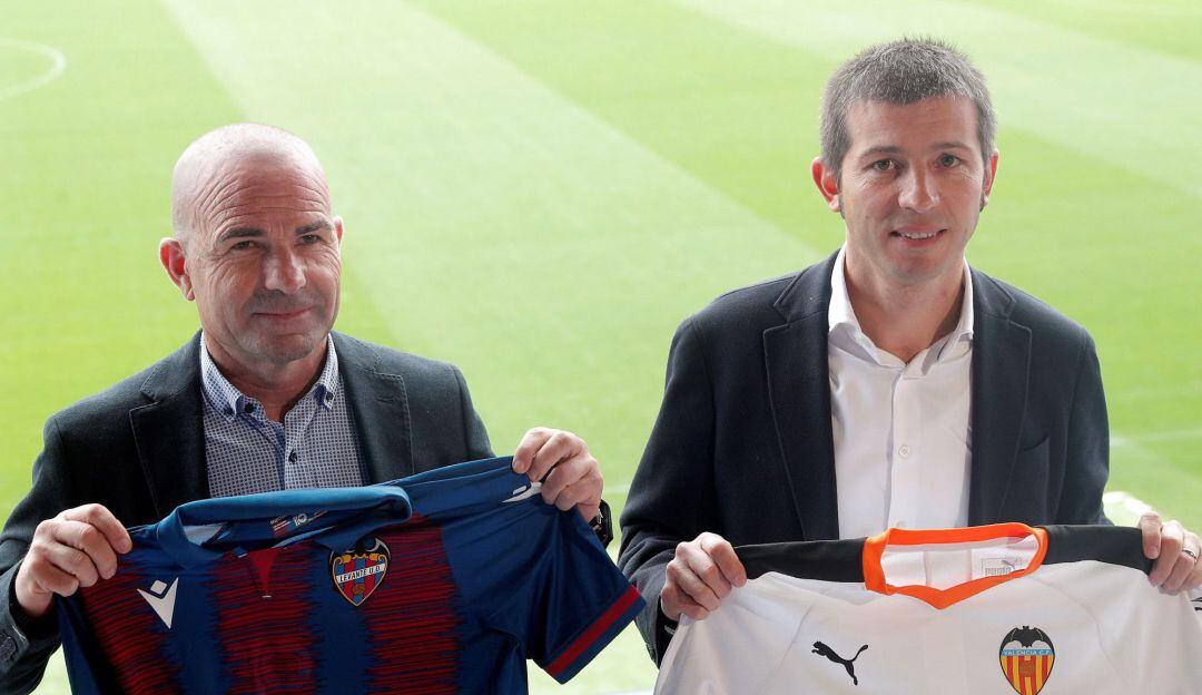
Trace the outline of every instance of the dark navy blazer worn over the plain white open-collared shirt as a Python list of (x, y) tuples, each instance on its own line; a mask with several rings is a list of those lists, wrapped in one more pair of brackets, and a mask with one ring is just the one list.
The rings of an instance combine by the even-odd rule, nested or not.
[[(715, 299), (677, 329), (659, 417), (621, 515), (618, 559), (647, 599), (638, 628), (656, 663), (670, 636), (659, 596), (677, 543), (839, 537), (827, 308), (834, 256)], [(969, 523), (1103, 523), (1106, 400), (1083, 328), (972, 271)]]

